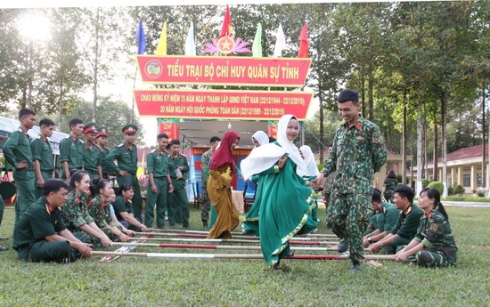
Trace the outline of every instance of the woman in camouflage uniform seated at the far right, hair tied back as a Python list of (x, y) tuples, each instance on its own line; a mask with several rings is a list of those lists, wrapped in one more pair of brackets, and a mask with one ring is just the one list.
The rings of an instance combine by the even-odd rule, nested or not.
[(396, 261), (411, 260), (423, 267), (444, 268), (456, 264), (458, 247), (439, 191), (433, 188), (421, 190), (419, 207), (424, 211), (417, 234), (401, 251)]

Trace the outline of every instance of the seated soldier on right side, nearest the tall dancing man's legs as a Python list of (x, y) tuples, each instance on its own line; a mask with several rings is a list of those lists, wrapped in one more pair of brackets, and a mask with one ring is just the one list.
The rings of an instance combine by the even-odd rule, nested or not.
[[(367, 247), (381, 238), (385, 238), (389, 231), (395, 227), (396, 220), (400, 210), (395, 205), (381, 201), (381, 191), (372, 190), (372, 210), (376, 213), (372, 215), (372, 221), (369, 223), (368, 230), (364, 232), (363, 246)], [(372, 229), (369, 227), (372, 226)]]

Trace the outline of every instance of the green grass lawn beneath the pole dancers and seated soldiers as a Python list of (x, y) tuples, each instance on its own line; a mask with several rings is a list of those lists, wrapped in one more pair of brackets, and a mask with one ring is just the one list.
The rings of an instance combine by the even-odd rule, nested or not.
[[(287, 272), (281, 274), (252, 259), (122, 257), (98, 263), (101, 256), (94, 256), (71, 264), (23, 263), (11, 249), (0, 253), (0, 306), (490, 306), (490, 208), (447, 211), (460, 246), (453, 268), (385, 261), (354, 274), (347, 261), (285, 260)], [(13, 210), (5, 209), (0, 236), (12, 237), (12, 222)], [(192, 206), (191, 229), (202, 230), (200, 211)], [(324, 227), (318, 231), (328, 233)], [(134, 251), (227, 252), (142, 246)]]

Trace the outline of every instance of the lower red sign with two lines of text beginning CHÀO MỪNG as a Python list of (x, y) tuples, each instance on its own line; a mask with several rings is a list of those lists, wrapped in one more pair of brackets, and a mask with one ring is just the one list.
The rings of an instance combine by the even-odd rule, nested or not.
[(133, 90), (140, 116), (170, 118), (278, 119), (306, 113), (313, 92), (225, 90)]

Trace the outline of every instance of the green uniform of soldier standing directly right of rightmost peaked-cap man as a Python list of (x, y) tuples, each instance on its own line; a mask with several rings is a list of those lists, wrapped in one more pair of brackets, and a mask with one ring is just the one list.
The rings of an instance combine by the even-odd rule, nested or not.
[(167, 211), (168, 198), (168, 155), (165, 151), (160, 152), (153, 149), (146, 156), (146, 170), (148, 174), (153, 173), (153, 181), (157, 186), (157, 193), (151, 191), (151, 184), (148, 183), (146, 192), (146, 210), (144, 214), (144, 224), (146, 227), (153, 226), (153, 210), (157, 206), (157, 228), (165, 228), (165, 212)]

